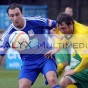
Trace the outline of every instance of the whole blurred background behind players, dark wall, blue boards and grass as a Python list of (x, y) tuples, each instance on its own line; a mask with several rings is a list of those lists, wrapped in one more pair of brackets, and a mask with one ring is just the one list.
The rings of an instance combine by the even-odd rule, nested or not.
[[(41, 16), (50, 19), (56, 19), (59, 12), (69, 6), (73, 9), (73, 18), (88, 25), (88, 0), (0, 0), (0, 34), (11, 23), (6, 13), (6, 9), (11, 3), (21, 4), (24, 16)], [(4, 57), (0, 67), (0, 88), (18, 88), (17, 77), (22, 64), (20, 56), (13, 49), (9, 49), (7, 53), (8, 55), (6, 54)], [(40, 74), (32, 88), (41, 87), (48, 88)]]

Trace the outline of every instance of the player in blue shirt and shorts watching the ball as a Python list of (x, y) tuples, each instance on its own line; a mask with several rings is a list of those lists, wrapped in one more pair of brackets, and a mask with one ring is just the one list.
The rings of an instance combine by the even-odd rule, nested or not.
[[(23, 17), (22, 7), (16, 3), (8, 7), (7, 14), (12, 24), (2, 36), (3, 44), (0, 48), (0, 63), (8, 47), (10, 47), (8, 43), (10, 34), (14, 31), (24, 31), (28, 34), (31, 44), (29, 44), (27, 49), (19, 52), (23, 62), (19, 74), (19, 88), (30, 88), (40, 72), (44, 74), (51, 88), (60, 88), (57, 82), (55, 60), (53, 57), (50, 59), (45, 57), (45, 53), (47, 53), (49, 49), (42, 46), (46, 41), (43, 29), (55, 27), (56, 22), (41, 17)], [(48, 43), (46, 43), (46, 45), (47, 44)]]

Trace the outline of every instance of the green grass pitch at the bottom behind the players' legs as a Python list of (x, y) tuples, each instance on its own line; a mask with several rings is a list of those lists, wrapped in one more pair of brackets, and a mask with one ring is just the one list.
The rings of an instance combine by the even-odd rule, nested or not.
[[(0, 69), (0, 88), (18, 88), (18, 70)], [(49, 88), (45, 85), (45, 79), (40, 74), (32, 88)]]

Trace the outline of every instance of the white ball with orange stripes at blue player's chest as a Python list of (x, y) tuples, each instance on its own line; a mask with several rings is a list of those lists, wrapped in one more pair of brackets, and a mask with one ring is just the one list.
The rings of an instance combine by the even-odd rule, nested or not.
[(28, 35), (23, 31), (15, 31), (9, 37), (10, 47), (17, 51), (25, 50), (29, 42)]

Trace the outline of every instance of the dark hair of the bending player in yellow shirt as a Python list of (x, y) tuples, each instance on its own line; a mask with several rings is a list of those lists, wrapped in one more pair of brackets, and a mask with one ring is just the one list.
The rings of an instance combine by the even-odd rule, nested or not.
[(65, 22), (67, 25), (71, 24), (71, 22), (74, 23), (73, 18), (64, 12), (59, 13), (56, 19), (57, 24), (61, 24), (62, 22)]

